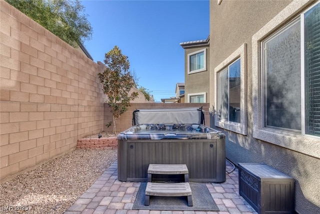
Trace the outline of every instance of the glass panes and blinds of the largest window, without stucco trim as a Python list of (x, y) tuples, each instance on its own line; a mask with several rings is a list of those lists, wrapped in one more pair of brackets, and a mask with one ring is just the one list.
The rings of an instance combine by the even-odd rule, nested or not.
[(320, 136), (320, 4), (262, 42), (262, 74), (264, 127)]

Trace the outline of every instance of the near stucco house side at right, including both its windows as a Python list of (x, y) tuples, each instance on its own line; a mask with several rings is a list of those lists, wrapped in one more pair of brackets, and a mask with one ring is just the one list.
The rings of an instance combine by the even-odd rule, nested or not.
[[(210, 38), (210, 121), (226, 157), (293, 177), (295, 211), (320, 213), (320, 1), (210, 1)], [(186, 94), (207, 84), (185, 76)]]

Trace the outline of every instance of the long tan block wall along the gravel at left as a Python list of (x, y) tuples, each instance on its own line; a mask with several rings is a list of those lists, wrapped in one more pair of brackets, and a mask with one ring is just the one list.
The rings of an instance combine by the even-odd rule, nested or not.
[(103, 130), (94, 63), (0, 1), (0, 181)]

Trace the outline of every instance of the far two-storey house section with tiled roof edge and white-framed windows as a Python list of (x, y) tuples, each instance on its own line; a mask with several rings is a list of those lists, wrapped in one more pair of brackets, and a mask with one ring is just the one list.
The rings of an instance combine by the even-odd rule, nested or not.
[(184, 49), (184, 102), (209, 101), (209, 37), (182, 42)]

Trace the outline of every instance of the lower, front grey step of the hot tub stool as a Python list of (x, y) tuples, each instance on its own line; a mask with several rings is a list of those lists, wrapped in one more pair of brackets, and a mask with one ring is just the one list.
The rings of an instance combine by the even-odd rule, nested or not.
[(191, 188), (188, 182), (184, 183), (153, 183), (147, 182), (145, 188), (144, 205), (150, 203), (153, 196), (187, 196), (188, 206), (192, 206)]

